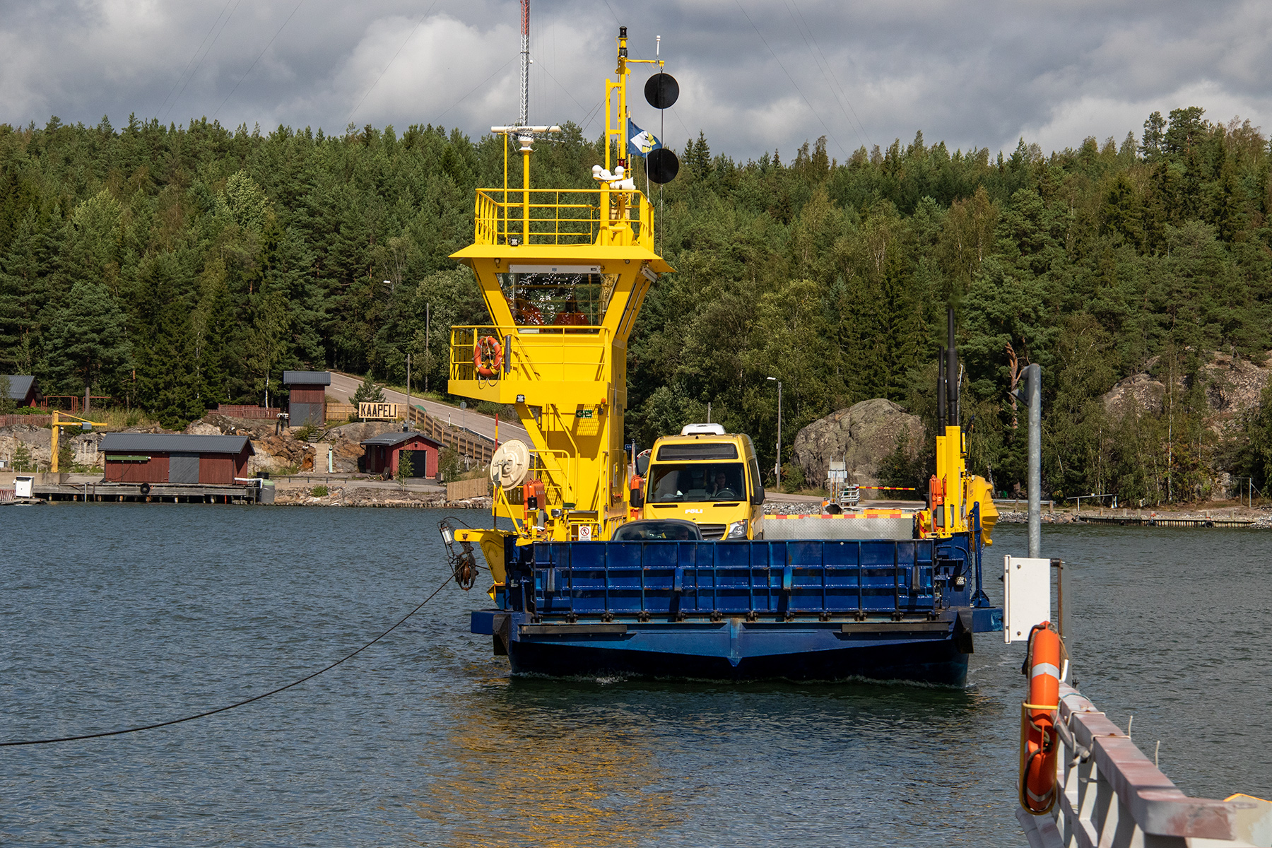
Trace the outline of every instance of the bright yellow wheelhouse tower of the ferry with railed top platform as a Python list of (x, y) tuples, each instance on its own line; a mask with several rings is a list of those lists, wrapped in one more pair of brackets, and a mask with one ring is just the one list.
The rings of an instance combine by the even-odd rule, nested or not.
[[(627, 339), (650, 285), (672, 268), (626, 161), (630, 65), (650, 60), (627, 57), (626, 27), (617, 48), (595, 187), (532, 186), (533, 142), (560, 127), (525, 126), (523, 111), (522, 126), (492, 127), (504, 136), (504, 186), (477, 189), (473, 243), (452, 256), (473, 270), (491, 320), (452, 328), (448, 390), (515, 406), (530, 435), (515, 482), (494, 487), (495, 515), (523, 544), (608, 539), (627, 517)], [(510, 141), (519, 187), (508, 179)], [(459, 535), (481, 542), (500, 581), (504, 534)]]

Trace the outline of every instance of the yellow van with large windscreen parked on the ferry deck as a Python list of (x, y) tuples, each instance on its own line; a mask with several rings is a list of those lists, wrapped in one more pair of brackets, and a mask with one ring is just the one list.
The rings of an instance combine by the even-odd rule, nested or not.
[(640, 519), (693, 521), (703, 539), (762, 539), (764, 487), (750, 436), (687, 425), (637, 464), (631, 506)]

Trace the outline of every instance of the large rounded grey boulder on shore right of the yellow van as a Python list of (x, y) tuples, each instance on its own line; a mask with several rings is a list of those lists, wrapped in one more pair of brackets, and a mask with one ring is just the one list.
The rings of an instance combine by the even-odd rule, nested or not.
[(795, 463), (809, 486), (824, 483), (832, 462), (845, 460), (850, 481), (879, 484), (879, 464), (904, 436), (911, 450), (925, 439), (923, 422), (892, 400), (862, 400), (818, 418), (795, 436)]

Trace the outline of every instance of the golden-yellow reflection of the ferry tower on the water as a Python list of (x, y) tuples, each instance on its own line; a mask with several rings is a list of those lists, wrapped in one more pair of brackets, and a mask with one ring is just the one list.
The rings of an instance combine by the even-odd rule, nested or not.
[(458, 698), (450, 732), (417, 760), (411, 806), (448, 843), (639, 845), (683, 817), (692, 798), (658, 768), (640, 717), (572, 708), (560, 689), (555, 703), (519, 703), (522, 689)]

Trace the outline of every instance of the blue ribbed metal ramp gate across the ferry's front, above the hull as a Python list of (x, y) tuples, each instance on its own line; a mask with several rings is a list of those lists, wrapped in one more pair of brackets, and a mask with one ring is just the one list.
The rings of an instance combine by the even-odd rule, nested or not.
[(936, 608), (934, 554), (931, 539), (537, 544), (533, 608), (541, 615), (926, 613)]

